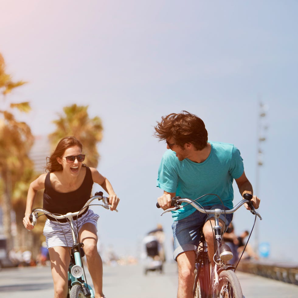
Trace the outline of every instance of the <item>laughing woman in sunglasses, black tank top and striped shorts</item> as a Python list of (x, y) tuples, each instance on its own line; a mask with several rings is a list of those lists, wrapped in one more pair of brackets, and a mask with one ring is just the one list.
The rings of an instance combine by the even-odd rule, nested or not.
[[(58, 143), (54, 153), (48, 158), (46, 170), (34, 180), (28, 190), (27, 204), (23, 224), (33, 229), (29, 215), (38, 190), (44, 189), (43, 208), (66, 214), (79, 211), (90, 198), (93, 182), (98, 183), (108, 194), (111, 210), (115, 210), (119, 198), (106, 177), (96, 169), (88, 168), (83, 161), (82, 144), (75, 137), (65, 137)], [(89, 273), (95, 290), (95, 297), (104, 297), (102, 293), (102, 260), (97, 251), (97, 220), (99, 216), (88, 209), (78, 218), (78, 236), (84, 243)], [(47, 219), (43, 234), (46, 237), (50, 255), (51, 271), (54, 280), (54, 298), (65, 298), (68, 291), (68, 265), (70, 263), (68, 237), (64, 237), (59, 226), (68, 227), (68, 223)], [(60, 233), (59, 233), (60, 232)]]

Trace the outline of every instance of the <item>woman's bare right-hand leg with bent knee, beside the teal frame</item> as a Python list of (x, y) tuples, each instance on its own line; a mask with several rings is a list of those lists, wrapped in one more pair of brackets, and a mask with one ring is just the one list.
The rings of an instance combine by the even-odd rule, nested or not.
[(95, 225), (87, 222), (79, 231), (79, 239), (84, 243), (84, 252), (94, 286), (95, 298), (100, 298), (104, 297), (102, 293), (102, 259), (97, 251), (96, 232)]

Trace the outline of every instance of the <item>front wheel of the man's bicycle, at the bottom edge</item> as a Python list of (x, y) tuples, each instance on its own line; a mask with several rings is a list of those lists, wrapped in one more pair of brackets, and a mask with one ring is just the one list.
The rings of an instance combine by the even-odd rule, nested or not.
[(237, 275), (232, 270), (221, 271), (219, 284), (215, 289), (216, 298), (243, 298)]

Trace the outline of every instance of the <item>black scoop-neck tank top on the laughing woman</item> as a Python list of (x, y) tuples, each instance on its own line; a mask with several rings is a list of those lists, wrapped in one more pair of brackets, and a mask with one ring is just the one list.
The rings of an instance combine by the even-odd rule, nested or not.
[[(43, 192), (43, 208), (51, 213), (66, 214), (68, 212), (77, 212), (85, 205), (90, 199), (92, 191), (92, 174), (90, 168), (86, 167), (86, 174), (81, 186), (74, 191), (69, 193), (60, 193), (54, 190), (50, 181), (50, 172), (47, 173), (44, 181), (44, 192)], [(87, 212), (87, 209), (84, 213)], [(82, 213), (81, 215), (83, 215)], [(81, 215), (79, 217), (81, 217)], [(53, 218), (47, 216), (49, 219)], [(66, 222), (62, 219), (59, 222)]]

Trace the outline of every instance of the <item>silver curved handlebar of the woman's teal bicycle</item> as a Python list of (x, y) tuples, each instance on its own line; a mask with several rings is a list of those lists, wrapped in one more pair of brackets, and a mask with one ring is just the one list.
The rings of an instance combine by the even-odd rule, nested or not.
[[(69, 218), (69, 217), (78, 216), (78, 215), (82, 214), (86, 210), (86, 208), (90, 205), (90, 203), (95, 199), (102, 200), (103, 205), (98, 204), (99, 206), (102, 206), (103, 208), (106, 208), (106, 209), (110, 209), (109, 200), (108, 200), (109, 198), (108, 197), (103, 197), (102, 194), (103, 194), (102, 191), (96, 192), (95, 195), (93, 197), (91, 197), (85, 203), (85, 205), (83, 206), (83, 208), (81, 208), (80, 211), (68, 212), (67, 214), (64, 214), (64, 215), (53, 214), (53, 213), (51, 213), (51, 212), (49, 212), (49, 211), (47, 211), (46, 209), (43, 209), (43, 208), (34, 208), (32, 210), (32, 213), (29, 216), (30, 222), (32, 223), (32, 225), (36, 224), (37, 218), (40, 216), (40, 215), (38, 215), (39, 212), (42, 212), (43, 214), (48, 215), (48, 216), (50, 216), (54, 219), (65, 219), (65, 218)], [(115, 209), (115, 211), (118, 212), (117, 209)]]

